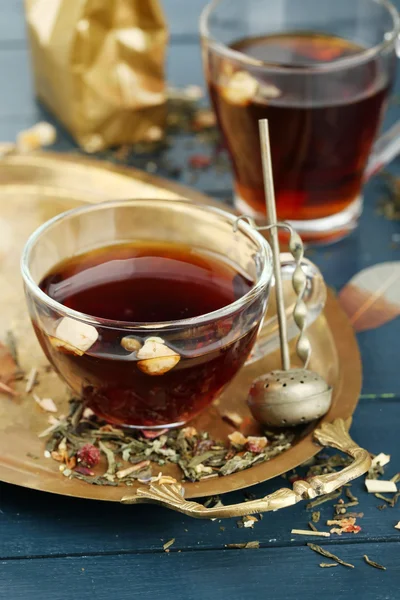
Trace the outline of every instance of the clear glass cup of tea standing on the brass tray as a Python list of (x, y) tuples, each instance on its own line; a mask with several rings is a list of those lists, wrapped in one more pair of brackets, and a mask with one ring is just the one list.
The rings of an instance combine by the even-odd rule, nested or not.
[[(276, 316), (267, 313), (264, 319), (272, 283), (271, 249), (246, 222), (240, 222), (234, 231), (235, 222), (236, 217), (228, 212), (186, 201), (132, 200), (68, 211), (31, 235), (21, 268), (35, 333), (58, 374), (98, 416), (140, 429), (182, 425), (211, 404), (246, 360), (254, 361), (277, 347)], [(129, 270), (136, 268), (138, 263), (126, 254), (131, 243), (184, 244), (202, 257), (200, 265), (210, 258), (225, 264), (224, 272), (232, 275), (224, 280), (231, 302), (189, 318), (135, 321), (138, 295), (145, 295), (145, 305), (157, 304), (160, 297), (146, 295), (146, 282), (142, 279), (135, 287), (135, 280), (129, 277), (131, 291), (123, 289), (130, 294), (126, 304), (132, 314), (130, 318), (120, 314), (116, 308), (120, 288), (110, 295), (104, 283), (116, 263), (119, 274), (125, 272), (124, 261)], [(87, 270), (80, 270), (84, 257), (101, 257), (104, 248), (112, 249), (114, 266), (96, 259)], [(65, 271), (58, 265), (71, 259), (68, 278), (61, 276)], [(181, 272), (179, 264), (172, 262), (175, 272), (178, 267), (181, 283), (186, 284), (187, 270)], [(144, 267), (137, 267), (145, 278), (152, 277), (151, 264), (145, 260)], [(288, 283), (293, 268), (294, 261), (283, 255), (282, 270)], [(304, 268), (311, 322), (323, 308), (325, 287), (312, 263), (305, 261)], [(165, 278), (165, 273), (164, 269), (158, 276)], [(215, 287), (216, 273), (206, 275), (213, 278), (210, 281)], [(122, 280), (118, 275), (117, 283)], [(179, 285), (179, 277), (174, 281)], [(245, 287), (244, 282), (248, 282)], [(109, 306), (102, 299), (111, 298), (110, 307), (118, 314), (111, 318), (101, 311), (89, 314), (79, 310), (78, 295), (71, 292), (76, 286), (84, 299), (100, 299), (107, 311)], [(174, 290), (176, 298), (181, 292)], [(59, 296), (63, 292), (66, 300)], [(293, 299), (288, 300), (289, 307)], [(161, 301), (168, 302), (164, 296)]]

